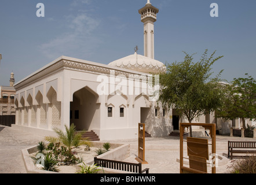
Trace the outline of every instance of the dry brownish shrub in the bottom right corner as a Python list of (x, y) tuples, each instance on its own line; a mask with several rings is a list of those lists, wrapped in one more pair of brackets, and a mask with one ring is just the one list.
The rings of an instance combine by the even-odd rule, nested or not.
[(228, 168), (231, 168), (231, 173), (256, 173), (256, 156), (233, 160), (232, 165)]

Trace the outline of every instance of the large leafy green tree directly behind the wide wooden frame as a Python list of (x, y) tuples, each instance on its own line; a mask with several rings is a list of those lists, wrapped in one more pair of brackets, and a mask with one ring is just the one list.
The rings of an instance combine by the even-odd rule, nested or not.
[[(185, 52), (184, 52), (185, 53)], [(185, 53), (184, 61), (167, 65), (167, 72), (160, 74), (158, 102), (167, 109), (177, 109), (189, 123), (221, 106), (222, 93), (219, 76), (211, 78), (211, 66), (223, 56), (207, 58), (205, 50), (200, 61), (194, 63), (193, 54)], [(190, 128), (192, 136), (192, 128)]]

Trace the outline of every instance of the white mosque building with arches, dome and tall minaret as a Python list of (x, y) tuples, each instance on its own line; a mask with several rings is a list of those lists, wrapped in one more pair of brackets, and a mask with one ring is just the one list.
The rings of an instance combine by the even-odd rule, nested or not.
[(144, 23), (144, 56), (136, 52), (108, 65), (61, 56), (14, 84), (13, 126), (46, 135), (74, 123), (111, 140), (137, 138), (138, 123), (145, 123), (151, 136), (169, 135), (173, 112), (156, 102), (152, 92), (159, 86), (150, 85), (151, 74), (166, 71), (154, 59), (158, 11), (149, 0), (138, 10)]

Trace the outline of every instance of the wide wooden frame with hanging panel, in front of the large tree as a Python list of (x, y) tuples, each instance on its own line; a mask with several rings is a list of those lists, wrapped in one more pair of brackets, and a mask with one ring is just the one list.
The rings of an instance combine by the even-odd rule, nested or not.
[[(180, 123), (180, 173), (185, 173), (185, 172), (190, 172), (190, 173), (207, 173), (202, 170), (198, 169), (193, 169), (193, 168), (188, 168), (186, 166), (183, 166), (184, 164), (184, 156), (183, 156), (183, 135), (184, 135), (184, 129), (189, 128), (191, 126), (201, 126), (204, 129), (209, 129), (210, 130), (210, 136), (211, 136), (211, 144), (208, 143), (202, 143), (202, 142), (195, 142), (192, 141), (198, 145), (211, 145), (211, 153), (216, 154), (216, 124), (210, 124), (210, 123)], [(185, 140), (186, 142), (186, 140)], [(193, 157), (193, 156), (192, 156)], [(212, 161), (213, 164), (211, 166), (211, 173), (216, 173), (216, 167), (215, 167), (215, 161), (216, 161), (216, 155), (213, 155)], [(191, 158), (190, 158), (191, 159)], [(193, 160), (193, 159), (192, 159)], [(198, 163), (202, 163), (203, 161), (195, 160)], [(206, 162), (204, 162), (206, 163)], [(199, 164), (200, 165), (200, 164)]]

